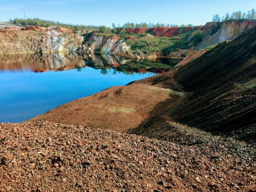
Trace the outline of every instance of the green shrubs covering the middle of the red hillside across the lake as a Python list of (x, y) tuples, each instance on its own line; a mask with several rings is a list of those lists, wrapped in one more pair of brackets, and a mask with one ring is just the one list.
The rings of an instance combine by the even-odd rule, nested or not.
[[(168, 55), (172, 51), (176, 51), (178, 49), (187, 49), (196, 46), (199, 42), (201, 42), (203, 38), (202, 31), (199, 30), (192, 36), (192, 33), (197, 30), (198, 26), (194, 26), (188, 31), (186, 31), (185, 28), (186, 27), (179, 28), (176, 32), (174, 32), (175, 36), (172, 37), (156, 37), (155, 33), (150, 30), (140, 34), (128, 33), (124, 27), (117, 27), (115, 28), (116, 31), (97, 31), (95, 32), (95, 35), (107, 37), (118, 36), (120, 39), (126, 39), (125, 42), (128, 46), (130, 46), (131, 53), (143, 57), (157, 51), (162, 52), (164, 55)], [(147, 35), (150, 36), (147, 37)], [(130, 38), (127, 39), (127, 37)]]

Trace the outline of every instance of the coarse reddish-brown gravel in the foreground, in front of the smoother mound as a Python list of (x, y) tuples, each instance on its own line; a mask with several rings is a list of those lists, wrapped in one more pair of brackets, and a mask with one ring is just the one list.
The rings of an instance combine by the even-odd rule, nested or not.
[[(172, 125), (187, 129), (182, 125)], [(191, 135), (186, 130), (186, 135)], [(254, 191), (255, 150), (44, 121), (0, 124), (1, 191)], [(200, 138), (201, 142), (198, 142)], [(236, 148), (239, 146), (239, 148)]]

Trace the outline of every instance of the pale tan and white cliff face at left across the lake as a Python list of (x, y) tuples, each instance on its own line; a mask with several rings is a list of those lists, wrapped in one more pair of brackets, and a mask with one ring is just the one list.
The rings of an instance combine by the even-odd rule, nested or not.
[(72, 30), (55, 26), (6, 27), (0, 29), (0, 54), (75, 51), (81, 46), (83, 38)]

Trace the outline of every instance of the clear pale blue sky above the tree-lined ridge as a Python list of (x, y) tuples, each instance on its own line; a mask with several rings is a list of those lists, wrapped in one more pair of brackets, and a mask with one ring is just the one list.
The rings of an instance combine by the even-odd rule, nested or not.
[(204, 25), (223, 16), (256, 9), (256, 0), (0, 0), (0, 21), (26, 17), (111, 26), (126, 22)]

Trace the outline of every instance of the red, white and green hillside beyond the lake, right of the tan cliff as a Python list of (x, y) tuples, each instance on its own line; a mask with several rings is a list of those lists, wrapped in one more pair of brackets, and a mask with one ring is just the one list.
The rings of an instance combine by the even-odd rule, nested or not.
[(255, 20), (235, 20), (197, 27), (116, 28), (115, 34), (113, 30), (85, 34), (83, 48), (138, 57), (185, 57), (193, 50), (232, 40), (255, 26)]

